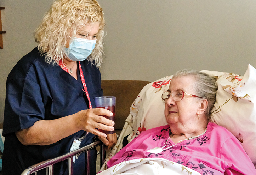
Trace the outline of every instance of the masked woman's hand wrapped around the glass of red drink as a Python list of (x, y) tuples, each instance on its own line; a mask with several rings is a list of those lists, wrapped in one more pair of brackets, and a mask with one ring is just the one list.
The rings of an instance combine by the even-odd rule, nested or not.
[[(103, 108), (87, 109), (74, 114), (75, 125), (80, 130), (90, 132), (99, 137), (106, 138), (107, 135), (98, 129), (113, 131), (114, 122), (100, 115), (112, 116), (111, 111)], [(97, 129), (96, 129), (97, 128)], [(116, 137), (116, 136), (115, 136)]]

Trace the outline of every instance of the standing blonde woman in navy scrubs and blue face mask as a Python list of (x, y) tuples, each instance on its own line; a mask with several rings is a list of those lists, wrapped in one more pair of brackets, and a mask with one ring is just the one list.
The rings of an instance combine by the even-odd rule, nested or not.
[[(105, 145), (116, 144), (114, 122), (106, 109), (95, 109), (102, 96), (101, 74), (104, 14), (95, 0), (57, 0), (34, 32), (38, 47), (25, 55), (6, 83), (3, 173), (18, 175), (30, 165), (80, 147), (97, 135)], [(95, 135), (94, 135), (95, 134)], [(95, 151), (91, 158), (96, 159)], [(93, 160), (95, 161), (95, 160)], [(96, 174), (95, 163), (91, 174)], [(78, 169), (80, 167), (80, 169)], [(73, 160), (73, 174), (83, 174), (83, 154)], [(81, 170), (82, 168), (82, 170)], [(66, 174), (67, 164), (54, 167)], [(39, 173), (38, 173), (39, 174)]]

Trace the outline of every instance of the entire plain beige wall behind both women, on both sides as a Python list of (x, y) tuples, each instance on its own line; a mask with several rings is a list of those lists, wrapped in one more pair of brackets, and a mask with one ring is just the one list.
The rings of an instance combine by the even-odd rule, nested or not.
[[(0, 122), (5, 82), (36, 43), (52, 0), (1, 0)], [(102, 79), (154, 81), (182, 68), (244, 74), (256, 67), (255, 0), (99, 0), (106, 18)]]

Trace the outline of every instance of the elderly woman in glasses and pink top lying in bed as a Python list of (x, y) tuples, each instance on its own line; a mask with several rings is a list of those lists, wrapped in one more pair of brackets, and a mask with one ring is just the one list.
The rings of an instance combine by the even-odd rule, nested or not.
[(118, 168), (123, 161), (140, 158), (164, 158), (203, 175), (256, 174), (238, 139), (209, 122), (216, 91), (215, 79), (205, 73), (175, 73), (162, 95), (168, 125), (142, 132), (112, 157), (107, 167), (118, 164)]

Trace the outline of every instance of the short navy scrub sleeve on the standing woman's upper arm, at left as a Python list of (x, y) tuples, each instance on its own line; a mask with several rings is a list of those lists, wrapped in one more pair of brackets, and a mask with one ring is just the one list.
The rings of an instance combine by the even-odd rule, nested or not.
[(34, 125), (44, 119), (44, 113), (38, 83), (19, 78), (7, 84), (3, 135)]

